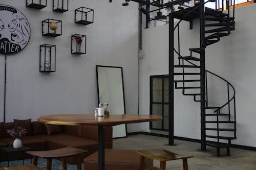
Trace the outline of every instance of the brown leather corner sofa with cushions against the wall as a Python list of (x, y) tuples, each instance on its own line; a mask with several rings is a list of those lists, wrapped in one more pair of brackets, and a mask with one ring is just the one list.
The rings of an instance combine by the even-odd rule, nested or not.
[[(98, 151), (98, 126), (45, 125), (40, 122), (31, 122), (31, 119), (16, 121), (14, 119), (14, 122), (0, 123), (0, 147), (13, 144), (14, 138), (6, 131), (15, 126), (23, 126), (27, 130), (27, 135), (20, 139), (23, 145), (31, 148), (32, 151), (74, 147), (88, 151), (87, 154), (82, 156), (82, 159)], [(105, 148), (112, 148), (112, 127), (105, 128)], [(4, 161), (6, 158), (6, 154), (1, 151), (0, 161)], [(22, 155), (11, 155), (11, 160), (21, 158)], [(69, 158), (67, 163), (75, 164), (76, 160)]]

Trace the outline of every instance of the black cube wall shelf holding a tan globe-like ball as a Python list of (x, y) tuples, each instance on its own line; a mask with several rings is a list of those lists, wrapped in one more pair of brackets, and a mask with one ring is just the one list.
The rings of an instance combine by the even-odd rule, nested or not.
[(42, 35), (57, 37), (62, 34), (62, 22), (56, 19), (46, 19), (42, 21)]

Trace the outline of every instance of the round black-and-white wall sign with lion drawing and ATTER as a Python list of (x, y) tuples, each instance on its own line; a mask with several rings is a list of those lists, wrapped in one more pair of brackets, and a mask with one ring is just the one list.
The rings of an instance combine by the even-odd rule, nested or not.
[(30, 26), (22, 12), (8, 5), (0, 5), (0, 53), (18, 53), (29, 42)]

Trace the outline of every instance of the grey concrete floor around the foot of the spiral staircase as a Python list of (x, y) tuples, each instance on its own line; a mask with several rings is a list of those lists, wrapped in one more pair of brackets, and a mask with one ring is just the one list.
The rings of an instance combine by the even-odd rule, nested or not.
[[(192, 155), (188, 158), (189, 170), (256, 170), (256, 152), (230, 148), (231, 156), (225, 156), (226, 150), (221, 150), (220, 157), (216, 156), (216, 149), (207, 147), (206, 152), (201, 152), (200, 143), (175, 140), (174, 146), (166, 145), (167, 138), (149, 135), (131, 135), (127, 138), (114, 139), (113, 149), (142, 150), (164, 148), (181, 154)], [(154, 166), (159, 167), (159, 162), (154, 161)], [(166, 169), (183, 169), (182, 160), (167, 161)]]

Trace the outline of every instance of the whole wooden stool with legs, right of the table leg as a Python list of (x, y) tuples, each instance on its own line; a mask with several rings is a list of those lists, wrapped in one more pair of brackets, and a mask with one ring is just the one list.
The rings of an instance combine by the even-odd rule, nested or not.
[(140, 170), (143, 170), (144, 158), (150, 158), (150, 159), (153, 159), (153, 160), (159, 160), (160, 161), (160, 168), (152, 167), (152, 168), (148, 168), (146, 170), (165, 169), (166, 161), (168, 161), (168, 160), (177, 160), (177, 159), (182, 159), (183, 169), (188, 170), (187, 158), (193, 157), (193, 156), (179, 155), (179, 154), (167, 151), (165, 149), (140, 150), (140, 151), (136, 151), (136, 152), (140, 155)]

